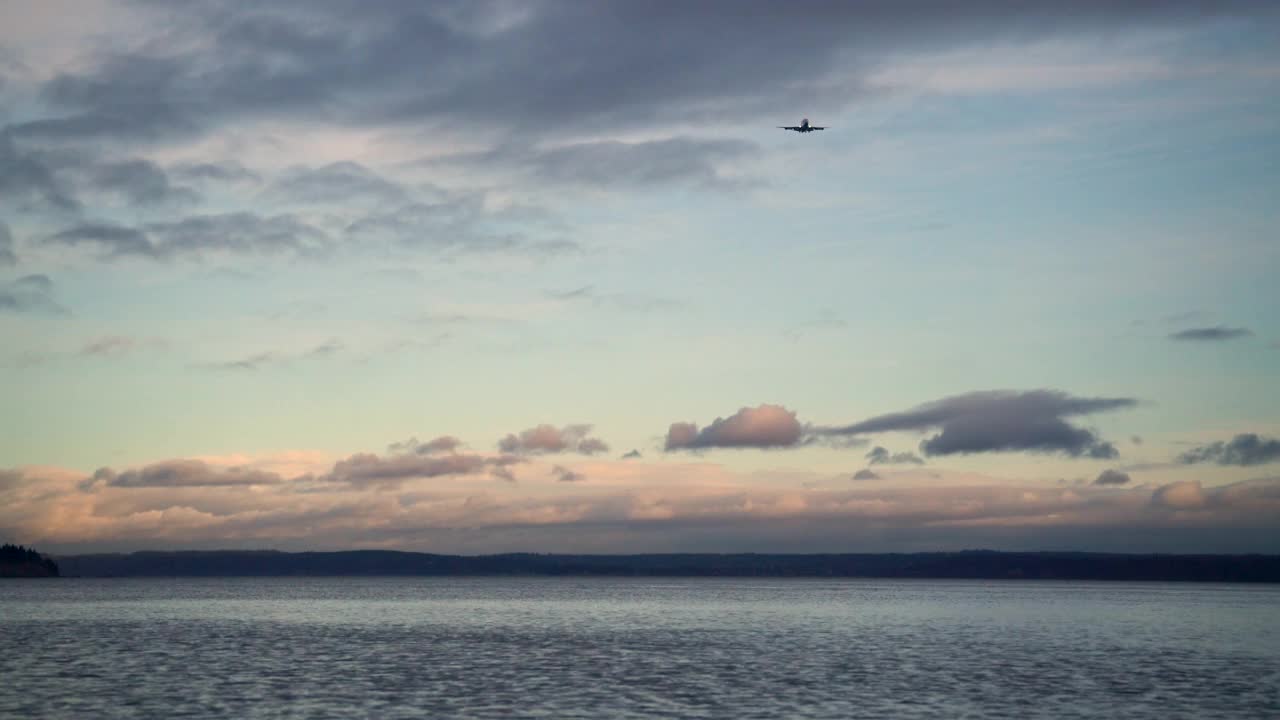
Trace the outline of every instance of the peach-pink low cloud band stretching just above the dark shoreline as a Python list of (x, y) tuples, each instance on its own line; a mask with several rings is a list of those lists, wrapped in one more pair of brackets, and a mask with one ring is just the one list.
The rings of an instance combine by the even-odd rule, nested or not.
[[(502, 455), (357, 454), (330, 471), (302, 471), (293, 460), (179, 459), (88, 477), (4, 469), (0, 528), (60, 551), (1280, 550), (1280, 478), (1152, 489), (946, 471), (873, 483), (868, 469), (852, 484), (778, 475), (762, 486), (705, 462), (593, 460), (570, 469)], [(517, 466), (527, 468), (527, 486), (502, 482)]]

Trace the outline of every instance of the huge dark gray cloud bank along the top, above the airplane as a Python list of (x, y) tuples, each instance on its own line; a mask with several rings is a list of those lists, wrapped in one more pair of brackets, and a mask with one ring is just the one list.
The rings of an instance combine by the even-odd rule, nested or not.
[(911, 50), (1274, 12), (1199, 0), (820, 3), (803, 13), (768, 0), (467, 5), (188, 3), (137, 50), (49, 81), (42, 95), (58, 114), (13, 132), (157, 138), (293, 115), (581, 135), (836, 108), (867, 91), (886, 56)]

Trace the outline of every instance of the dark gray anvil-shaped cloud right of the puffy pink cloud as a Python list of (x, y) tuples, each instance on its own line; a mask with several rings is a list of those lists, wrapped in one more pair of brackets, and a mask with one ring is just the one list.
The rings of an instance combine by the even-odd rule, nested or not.
[(1073, 397), (1061, 391), (979, 391), (945, 397), (901, 413), (815, 432), (855, 436), (941, 428), (920, 443), (924, 455), (973, 452), (1061, 452), (1071, 457), (1115, 457), (1115, 446), (1064, 418), (1133, 407), (1128, 397)]

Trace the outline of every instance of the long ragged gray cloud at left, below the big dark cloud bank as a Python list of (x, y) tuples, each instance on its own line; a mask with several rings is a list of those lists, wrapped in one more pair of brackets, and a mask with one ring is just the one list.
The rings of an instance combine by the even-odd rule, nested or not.
[(156, 260), (206, 252), (307, 255), (329, 249), (329, 237), (324, 232), (294, 215), (264, 217), (256, 213), (192, 215), (141, 228), (84, 223), (49, 236), (46, 242), (99, 247), (108, 259), (141, 256)]

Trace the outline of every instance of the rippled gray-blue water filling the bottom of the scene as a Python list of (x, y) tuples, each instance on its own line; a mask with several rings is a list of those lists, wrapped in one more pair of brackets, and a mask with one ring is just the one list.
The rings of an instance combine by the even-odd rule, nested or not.
[(0, 717), (1280, 717), (1280, 587), (0, 582)]

